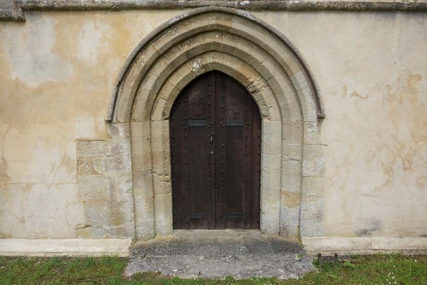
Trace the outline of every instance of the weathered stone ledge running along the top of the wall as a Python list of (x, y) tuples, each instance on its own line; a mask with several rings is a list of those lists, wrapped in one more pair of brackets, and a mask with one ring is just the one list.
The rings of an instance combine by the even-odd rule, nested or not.
[(249, 11), (427, 12), (427, 1), (0, 0), (0, 21), (25, 21), (23, 11), (120, 11), (217, 6)]

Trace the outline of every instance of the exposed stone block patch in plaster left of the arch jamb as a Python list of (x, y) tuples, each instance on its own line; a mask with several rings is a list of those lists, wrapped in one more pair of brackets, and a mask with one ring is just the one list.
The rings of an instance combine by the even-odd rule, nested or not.
[(86, 215), (86, 223), (77, 229), (79, 238), (134, 237), (128, 130), (128, 125), (113, 125), (107, 141), (76, 142), (78, 199), (84, 202)]

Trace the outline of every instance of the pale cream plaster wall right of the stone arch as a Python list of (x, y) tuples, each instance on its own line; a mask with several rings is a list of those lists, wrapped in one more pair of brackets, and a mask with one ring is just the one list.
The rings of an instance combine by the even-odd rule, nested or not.
[(310, 64), (332, 236), (427, 234), (427, 15), (257, 14)]

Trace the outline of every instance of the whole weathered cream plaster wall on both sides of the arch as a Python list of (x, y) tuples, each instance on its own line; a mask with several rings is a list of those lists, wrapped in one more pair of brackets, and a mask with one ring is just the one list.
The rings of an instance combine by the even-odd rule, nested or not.
[[(120, 68), (182, 12), (26, 12), (0, 24), (0, 237), (85, 237), (85, 204), (117, 199), (78, 193), (76, 140), (109, 138)], [(253, 14), (292, 41), (320, 87), (327, 234), (426, 235), (427, 15)]]

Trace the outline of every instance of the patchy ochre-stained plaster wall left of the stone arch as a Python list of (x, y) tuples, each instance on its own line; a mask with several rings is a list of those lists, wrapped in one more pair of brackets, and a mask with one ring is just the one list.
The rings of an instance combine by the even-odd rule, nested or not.
[(76, 140), (107, 139), (120, 68), (177, 13), (31, 12), (0, 24), (0, 237), (85, 236), (85, 202), (103, 196), (77, 192)]

